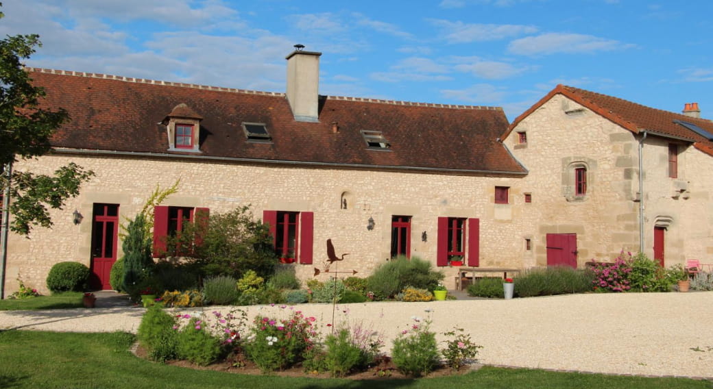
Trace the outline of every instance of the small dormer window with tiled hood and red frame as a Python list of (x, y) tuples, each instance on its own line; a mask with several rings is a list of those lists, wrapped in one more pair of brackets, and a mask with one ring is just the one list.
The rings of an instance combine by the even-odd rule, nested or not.
[(200, 152), (201, 115), (180, 103), (166, 115), (161, 124), (166, 126), (168, 151)]

